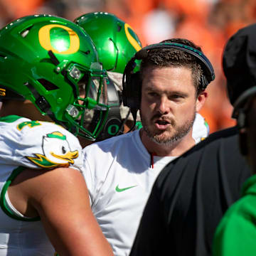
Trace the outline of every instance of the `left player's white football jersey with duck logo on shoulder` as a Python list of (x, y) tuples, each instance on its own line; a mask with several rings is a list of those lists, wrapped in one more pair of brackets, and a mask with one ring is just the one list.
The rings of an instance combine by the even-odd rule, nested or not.
[(57, 124), (14, 115), (0, 118), (0, 256), (54, 255), (41, 221), (19, 213), (7, 189), (23, 168), (81, 170), (81, 152), (78, 139)]

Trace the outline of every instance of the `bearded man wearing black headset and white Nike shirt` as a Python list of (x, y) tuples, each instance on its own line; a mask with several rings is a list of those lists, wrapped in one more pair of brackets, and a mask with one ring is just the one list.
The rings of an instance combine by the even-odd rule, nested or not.
[[(142, 60), (134, 73), (136, 61)], [(83, 149), (92, 212), (114, 255), (129, 255), (144, 205), (161, 169), (200, 141), (194, 122), (214, 71), (201, 48), (172, 39), (142, 48), (124, 70), (123, 100), (143, 128)], [(198, 126), (197, 129), (194, 129)], [(199, 132), (199, 134), (202, 134)]]

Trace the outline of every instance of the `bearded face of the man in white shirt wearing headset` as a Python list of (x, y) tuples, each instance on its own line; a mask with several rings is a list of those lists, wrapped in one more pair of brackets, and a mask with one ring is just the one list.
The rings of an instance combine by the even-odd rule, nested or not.
[(196, 96), (192, 71), (184, 67), (148, 67), (142, 80), (143, 132), (158, 144), (171, 144), (191, 130), (205, 97)]

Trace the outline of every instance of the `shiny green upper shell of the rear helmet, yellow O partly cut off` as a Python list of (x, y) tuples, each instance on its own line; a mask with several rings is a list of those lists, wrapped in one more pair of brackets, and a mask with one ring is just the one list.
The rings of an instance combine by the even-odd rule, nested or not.
[(84, 14), (75, 23), (92, 38), (99, 54), (99, 61), (107, 71), (124, 73), (125, 65), (142, 48), (131, 26), (105, 12)]

